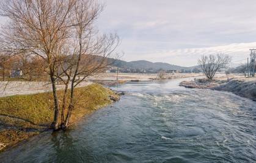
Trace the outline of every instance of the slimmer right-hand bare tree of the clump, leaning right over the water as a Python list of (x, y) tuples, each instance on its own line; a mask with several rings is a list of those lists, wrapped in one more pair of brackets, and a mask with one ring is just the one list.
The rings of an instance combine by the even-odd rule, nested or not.
[[(70, 117), (75, 103), (75, 88), (89, 75), (97, 74), (106, 69), (109, 64), (108, 57), (113, 54), (120, 40), (117, 35), (100, 35), (94, 27), (103, 6), (95, 1), (78, 1), (74, 10), (74, 21), (78, 24), (73, 29), (73, 44), (68, 44), (66, 56), (60, 66), (61, 73), (58, 77), (65, 84), (65, 91), (62, 105), (62, 128), (68, 127)], [(65, 55), (64, 54), (64, 55)], [(70, 88), (70, 100), (67, 115), (64, 120), (65, 100), (67, 100), (67, 88)]]

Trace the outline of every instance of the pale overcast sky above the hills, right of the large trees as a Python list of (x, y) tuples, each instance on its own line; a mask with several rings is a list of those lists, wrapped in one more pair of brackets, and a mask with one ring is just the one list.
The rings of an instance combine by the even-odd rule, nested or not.
[(101, 0), (103, 32), (117, 32), (126, 61), (197, 64), (202, 54), (222, 52), (246, 62), (256, 47), (255, 0)]

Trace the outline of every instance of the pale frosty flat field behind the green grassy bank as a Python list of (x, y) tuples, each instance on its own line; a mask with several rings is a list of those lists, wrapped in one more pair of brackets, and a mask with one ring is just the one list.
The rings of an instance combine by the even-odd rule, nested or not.
[[(159, 79), (172, 79), (172, 78), (189, 78), (199, 77), (201, 73), (172, 73), (165, 74), (163, 78), (159, 78), (158, 74), (133, 74), (133, 73), (103, 73), (87, 78), (78, 85), (84, 87), (91, 83), (100, 83), (101, 85), (111, 86), (120, 85), (128, 81), (150, 81)], [(57, 89), (64, 89), (65, 86), (58, 83)], [(52, 90), (49, 81), (0, 81), (0, 97), (10, 95), (27, 95), (42, 92), (50, 92)]]

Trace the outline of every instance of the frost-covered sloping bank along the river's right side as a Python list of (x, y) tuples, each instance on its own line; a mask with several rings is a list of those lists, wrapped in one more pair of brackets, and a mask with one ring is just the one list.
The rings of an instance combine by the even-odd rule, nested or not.
[(256, 78), (231, 78), (229, 80), (199, 79), (194, 81), (182, 81), (180, 86), (186, 88), (213, 89), (218, 91), (232, 92), (252, 100), (256, 100)]

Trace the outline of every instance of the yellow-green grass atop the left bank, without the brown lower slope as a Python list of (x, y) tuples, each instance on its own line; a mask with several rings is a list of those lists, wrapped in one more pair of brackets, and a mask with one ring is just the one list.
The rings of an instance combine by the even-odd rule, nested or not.
[[(18, 89), (18, 88), (17, 88)], [(58, 91), (59, 103), (62, 105), (63, 91)], [(81, 117), (84, 113), (111, 103), (110, 95), (116, 95), (108, 88), (92, 84), (75, 89), (76, 106), (73, 118)], [(31, 122), (34, 125), (49, 125), (53, 121), (53, 95), (51, 92), (13, 95), (0, 98), (0, 115)]]

